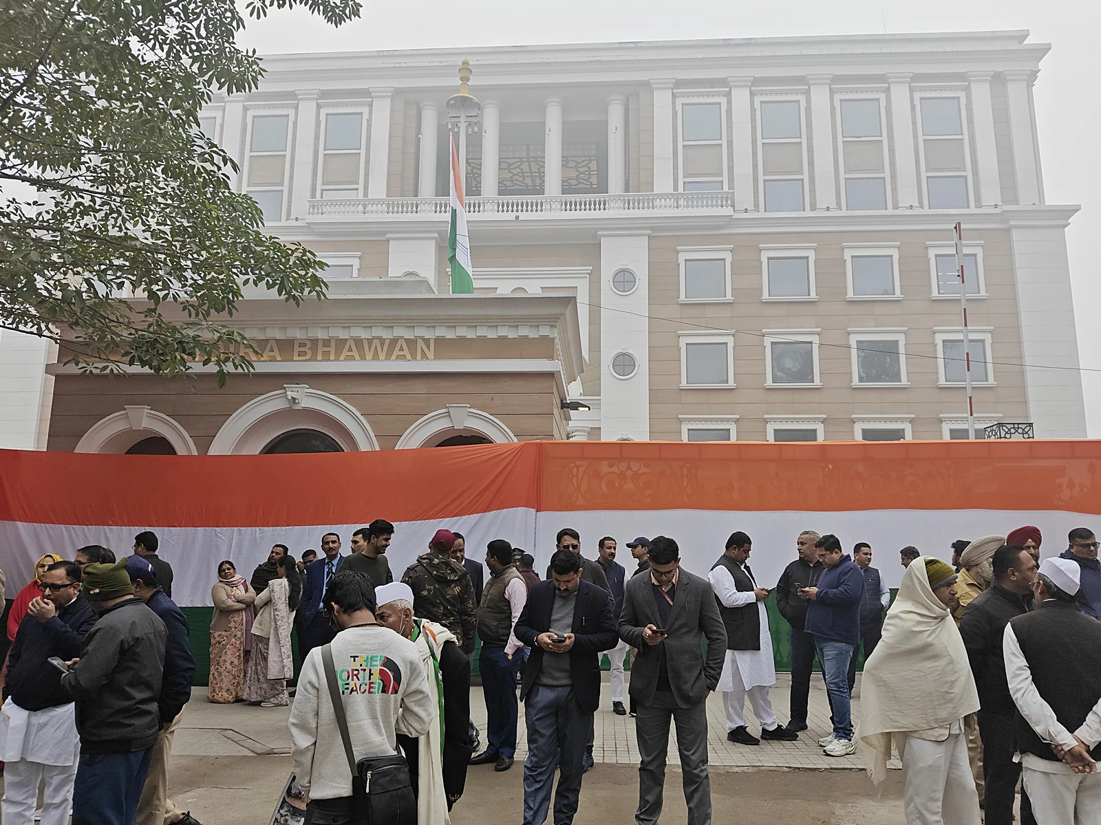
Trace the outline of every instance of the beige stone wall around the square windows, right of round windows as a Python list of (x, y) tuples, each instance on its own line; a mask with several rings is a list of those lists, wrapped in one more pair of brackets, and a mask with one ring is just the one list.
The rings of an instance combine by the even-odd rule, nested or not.
[[(680, 440), (679, 415), (738, 415), (740, 441), (764, 440), (766, 415), (825, 415), (828, 440), (851, 439), (853, 415), (914, 415), (913, 435), (940, 438), (938, 416), (964, 409), (962, 388), (937, 386), (935, 327), (959, 327), (959, 305), (931, 300), (927, 241), (944, 234), (925, 232), (791, 233), (787, 235), (652, 237), (650, 241), (651, 312), (674, 321), (650, 323), (651, 438)], [(1013, 265), (1005, 232), (974, 232), (983, 241), (989, 298), (969, 304), (973, 327), (993, 327), (996, 386), (975, 387), (978, 414), (1002, 414), (1002, 420), (1028, 420), (1024, 373), (1020, 366)], [(843, 242), (897, 242), (904, 300), (846, 300)], [(818, 300), (762, 302), (760, 244), (815, 243)], [(680, 304), (677, 246), (732, 244), (730, 304)], [(734, 389), (682, 389), (678, 330), (734, 329)], [(853, 387), (850, 328), (906, 328), (909, 387)], [(763, 329), (821, 329), (821, 388), (765, 388)], [(928, 358), (922, 358), (922, 356)]]

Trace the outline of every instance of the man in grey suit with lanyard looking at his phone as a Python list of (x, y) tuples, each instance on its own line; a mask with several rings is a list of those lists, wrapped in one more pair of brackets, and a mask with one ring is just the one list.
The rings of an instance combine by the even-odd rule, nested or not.
[[(722, 675), (727, 630), (711, 585), (680, 568), (680, 548), (673, 539), (651, 540), (650, 572), (626, 583), (619, 631), (639, 649), (631, 671), (631, 698), (639, 712), (635, 822), (656, 825), (662, 815), (669, 723), (675, 719), (688, 822), (705, 825), (711, 822), (706, 704)], [(707, 637), (706, 658), (701, 635)]]

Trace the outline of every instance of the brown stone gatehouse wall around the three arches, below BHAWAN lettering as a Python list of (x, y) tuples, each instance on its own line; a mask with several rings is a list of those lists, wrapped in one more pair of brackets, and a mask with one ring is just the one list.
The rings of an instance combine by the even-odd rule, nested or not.
[(418, 418), (448, 404), (469, 404), (499, 418), (521, 441), (565, 439), (562, 398), (549, 374), (505, 375), (231, 375), (218, 388), (212, 375), (170, 380), (64, 375), (54, 385), (50, 450), (72, 451), (101, 418), (126, 405), (149, 405), (179, 422), (206, 453), (215, 435), (241, 406), (284, 384), (308, 384), (338, 396), (367, 419), (383, 450)]

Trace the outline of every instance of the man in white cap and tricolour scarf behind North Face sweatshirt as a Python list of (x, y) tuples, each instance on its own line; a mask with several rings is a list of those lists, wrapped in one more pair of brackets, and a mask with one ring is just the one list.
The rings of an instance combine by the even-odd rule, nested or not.
[[(417, 793), (418, 825), (450, 822), (448, 812), (462, 795), (472, 743), (470, 729), (470, 660), (443, 625), (413, 615), (413, 590), (402, 582), (374, 588), (374, 617), (417, 646), (428, 692), (437, 708), (428, 733), (413, 739), (397, 735)], [(440, 714), (439, 708), (443, 710)]]

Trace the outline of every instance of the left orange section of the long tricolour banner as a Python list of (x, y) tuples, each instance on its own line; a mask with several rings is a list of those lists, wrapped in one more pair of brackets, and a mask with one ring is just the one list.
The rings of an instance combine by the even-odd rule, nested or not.
[(537, 461), (534, 443), (297, 455), (0, 450), (0, 520), (286, 527), (534, 509)]

